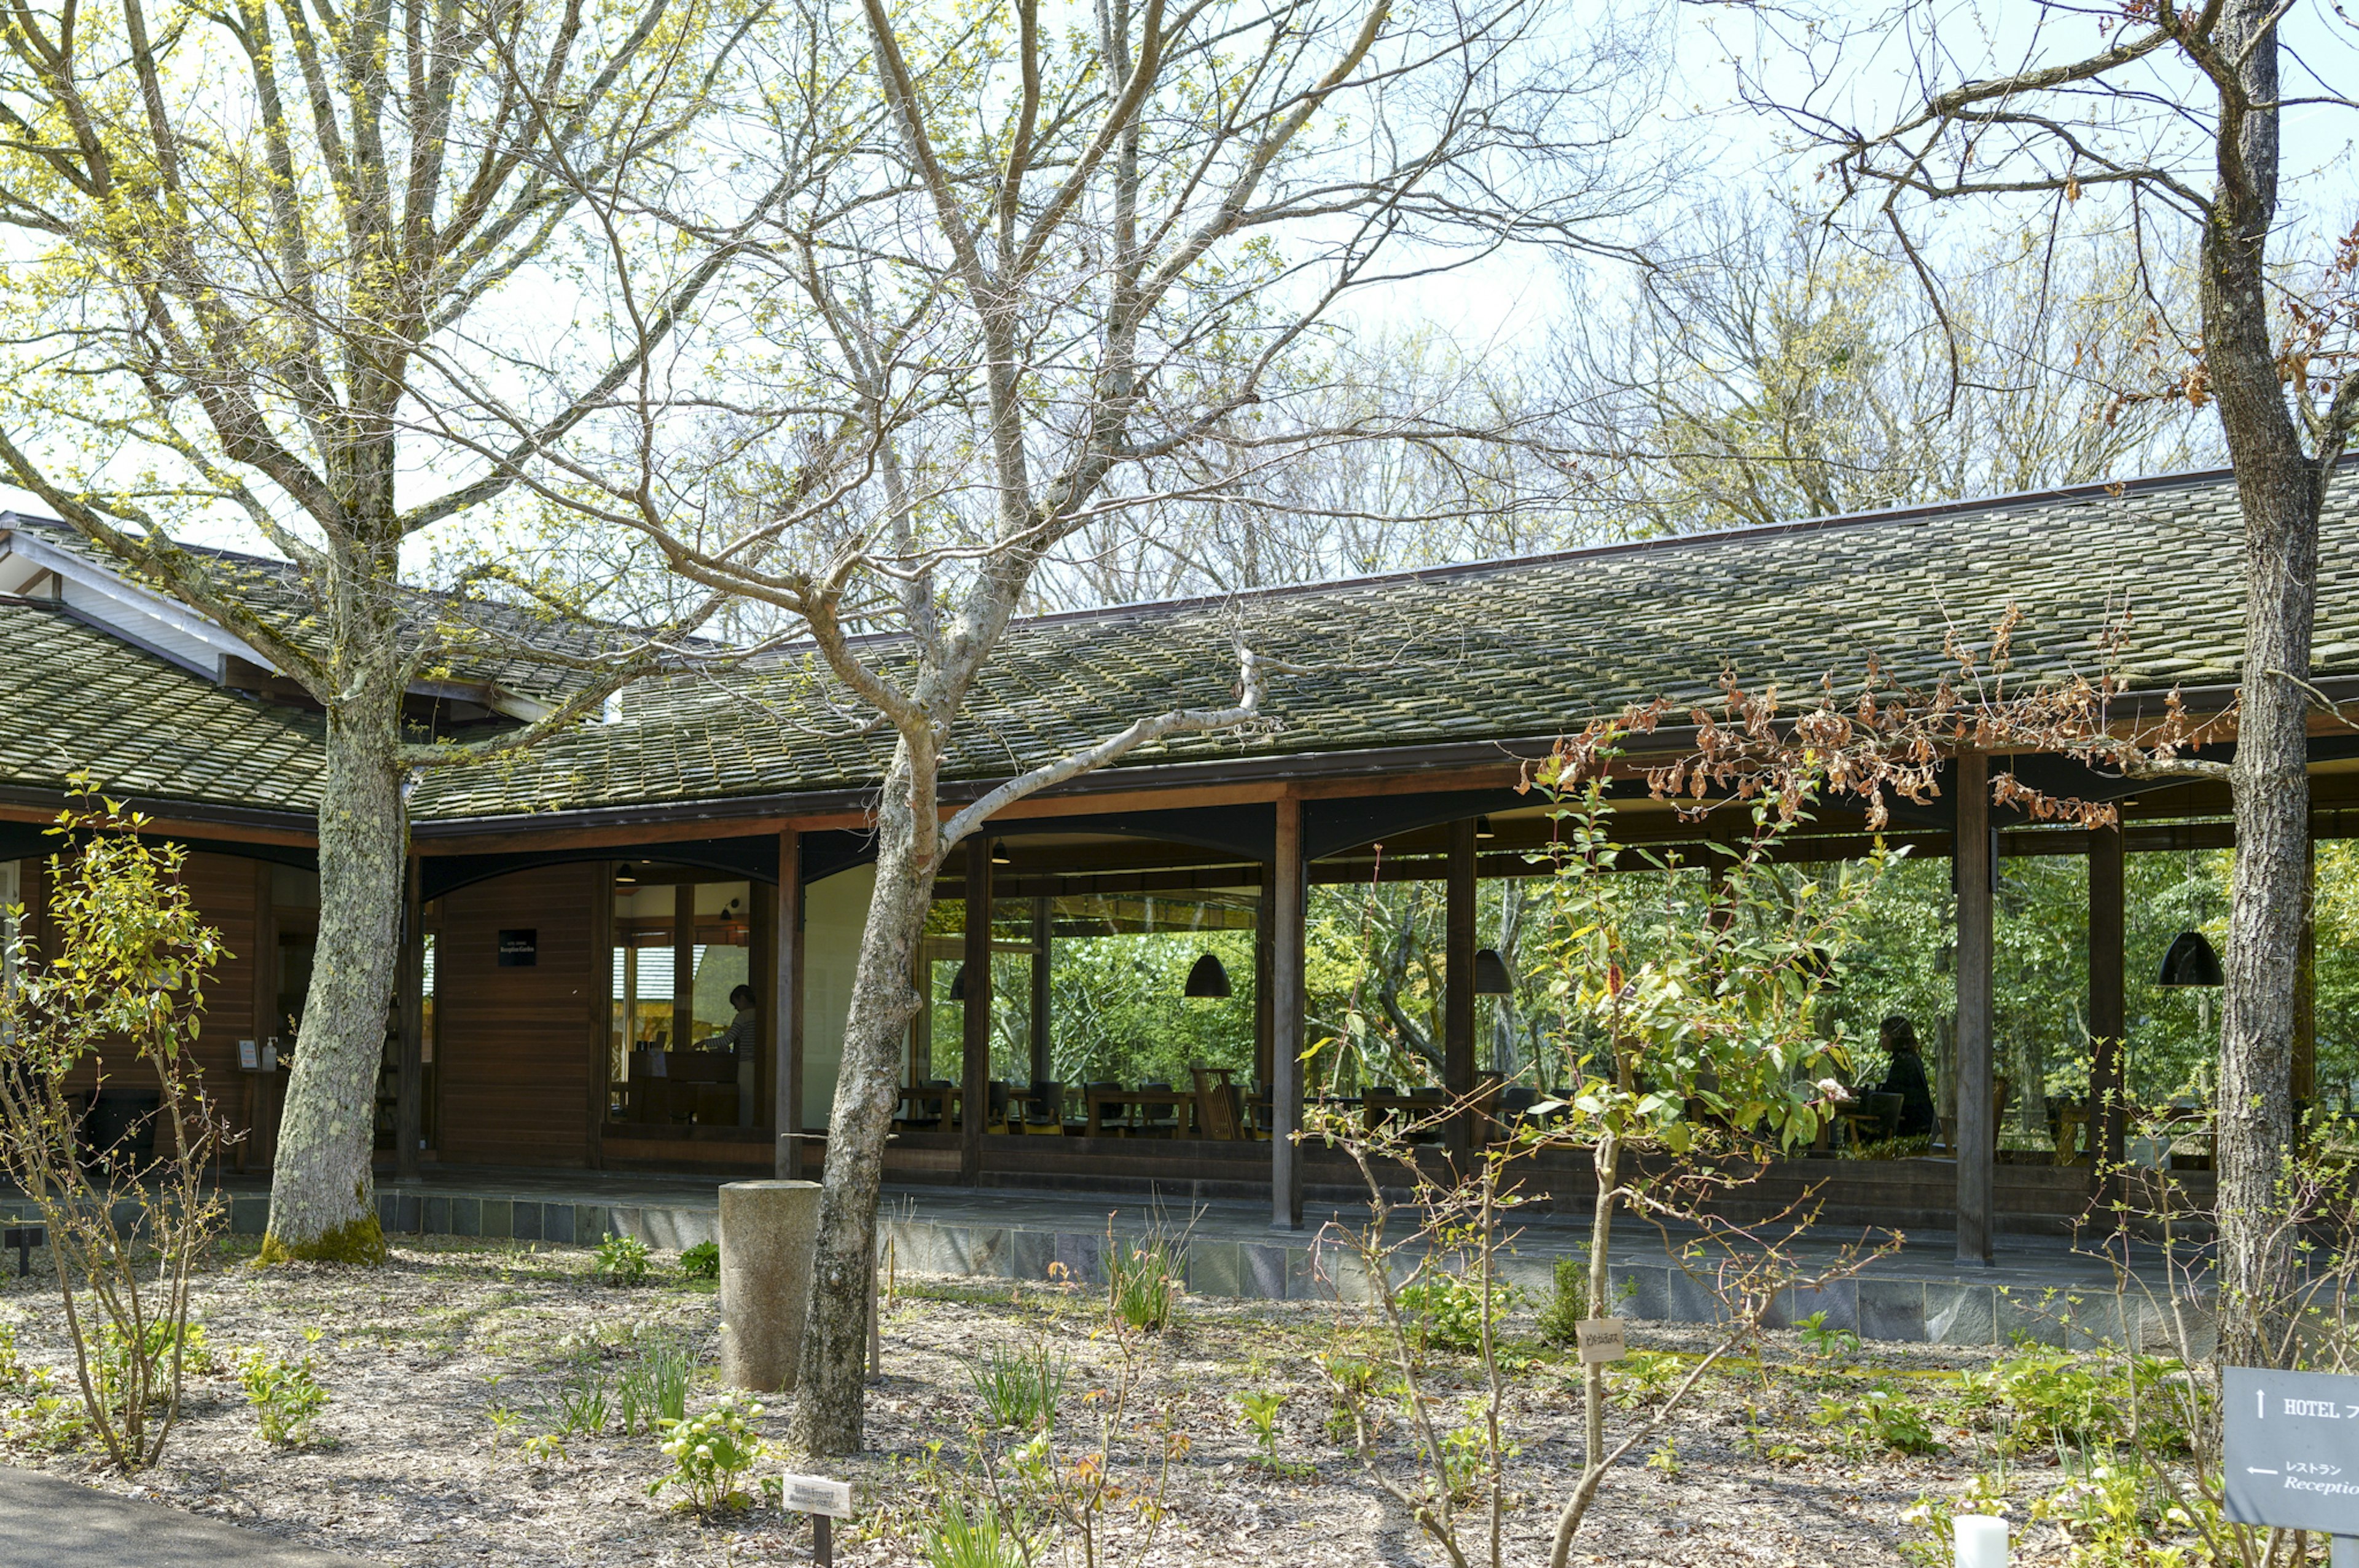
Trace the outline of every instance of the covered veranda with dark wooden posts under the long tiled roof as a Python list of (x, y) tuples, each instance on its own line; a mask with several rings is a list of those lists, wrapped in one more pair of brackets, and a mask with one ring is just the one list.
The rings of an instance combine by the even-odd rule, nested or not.
[[(1295, 1231), (1307, 1214), (1352, 1203), (1359, 1181), (1338, 1151), (1288, 1137), (1309, 1103), (1340, 1103), (1354, 1115), (1418, 1115), (1432, 1101), (1474, 1096), (1486, 1080), (1503, 1078), (1486, 1103), (1491, 1115), (1453, 1127), (1451, 1137), (1484, 1137), (1486, 1127), (1503, 1125), (1519, 1096), (1552, 1085), (1545, 1061), (1484, 1049), (1489, 1033), (1479, 1028), (1479, 1009), (1498, 990), (1503, 964), (1481, 946), (1479, 910), (1484, 889), (1496, 896), (1510, 879), (1548, 875), (1545, 858), (1533, 851), (1559, 828), (1536, 792), (1517, 788), (1545, 743), (1484, 745), (1479, 752), (1479, 759), (1465, 752), (1347, 755), (1191, 769), (1196, 778), (1165, 790), (1139, 790), (1135, 778), (1095, 780), (1095, 788), (1024, 802), (993, 821), (960, 849), (937, 887), (934, 922), (913, 976), (927, 1004), (908, 1040), (887, 1177), (929, 1186), (1253, 1200), (1267, 1203), (1276, 1228)], [(2314, 740), (2312, 830), (2319, 839), (2359, 832), (2359, 757), (2352, 752), (2335, 736)], [(1986, 788), (1993, 766), (2057, 792), (2114, 797), (2121, 825), (2083, 832), (1993, 813)], [(1635, 785), (1621, 795), (1618, 837), (1663, 861), (1703, 865), (1715, 818), (1689, 821)], [(755, 981), (764, 997), (769, 1115), (741, 1118), (731, 1106), (701, 1118), (722, 1122), (710, 1127), (694, 1113), (656, 1118), (646, 1111), (646, 1085), (625, 1087), (632, 1073), (644, 1075), (651, 1066), (646, 1040), (625, 1023), (625, 1037), (599, 1052), (609, 1075), (625, 1082), (597, 1085), (592, 1094), (602, 1115), (587, 1165), (816, 1174), (835, 1066), (823, 1042), (842, 1023), (866, 908), (868, 849), (861, 828), (842, 818), (807, 823), (760, 837), (653, 839), (623, 830), (597, 835), (594, 844), (493, 856), (484, 856), (472, 835), (420, 832), (420, 891), (455, 889), (469, 877), (488, 877), (486, 887), (495, 887), (521, 868), (519, 861), (531, 861), (583, 865), (592, 882), (611, 882), (609, 901), (627, 901), (635, 887), (665, 877), (677, 877), (677, 887), (691, 887), (689, 877), (708, 889), (727, 884), (722, 894), (745, 901), (731, 913), (727, 898), (708, 896), (715, 910), (694, 915), (696, 929), (665, 924), (661, 943), (675, 948), (682, 964), (710, 962), (691, 960), (686, 943), (696, 941), (696, 953), (708, 955), (717, 943), (698, 936), (717, 938), (722, 927), (748, 946), (731, 974)], [(710, 818), (703, 828), (710, 832)], [(618, 844), (625, 835), (630, 842)], [(2097, 1158), (2118, 1162), (2130, 1153), (2125, 1125), (2147, 1111), (2121, 1089), (2133, 986), (2125, 962), (2135, 924), (2125, 905), (2130, 856), (2232, 849), (2225, 790), (2206, 780), (2133, 790), (2059, 759), (1965, 755), (1944, 769), (1939, 802), (1904, 806), (1887, 832), (1871, 837), (1857, 811), (1828, 804), (1779, 854), (1795, 863), (1842, 861), (1878, 842), (1951, 865), (1953, 995), (1951, 1016), (1939, 1021), (1941, 1132), (1930, 1146), (1887, 1148), (1887, 1158), (1845, 1158), (1861, 1153), (1845, 1144), (1880, 1141), (1878, 1129), (1854, 1115), (1821, 1139), (1821, 1148), (1774, 1160), (1734, 1203), (1776, 1212), (1809, 1191), (1826, 1224), (1953, 1233), (1965, 1261), (1991, 1259), (2003, 1233), (2069, 1233), (2097, 1198)], [(635, 854), (625, 858), (625, 849)], [(2088, 1087), (2078, 1096), (2052, 1096), (2045, 1137), (2033, 1137), (2033, 1148), (2024, 1148), (2022, 1137), (2003, 1139), (2010, 1085), (1993, 1066), (1993, 969), (2000, 962), (1993, 905), (2003, 868), (2024, 858), (2076, 858), (2085, 879), (2085, 995), (2057, 997), (2057, 1004), (2085, 1019)], [(795, 875), (781, 877), (778, 868), (795, 868)], [(1314, 905), (1401, 884), (1439, 891), (1439, 953), (1430, 964), (1439, 981), (1434, 1049), (1397, 1059), (1406, 1070), (1382, 1082), (1366, 1066), (1335, 1068), (1319, 1056), (1307, 1078), (1305, 1045), (1321, 1023), (1307, 983)], [(988, 922), (967, 917), (977, 905), (991, 910)], [(644, 941), (627, 936), (625, 924), (616, 922), (613, 943)], [(703, 929), (708, 924), (712, 929)], [(418, 924), (432, 927), (432, 920)], [(1121, 960), (1123, 948), (1151, 948), (1151, 955)], [(1116, 955), (1116, 986), (1125, 990), (1128, 1040), (1111, 1037), (1102, 1019), (1083, 1016), (1087, 1009), (1078, 1002), (1087, 997), (1076, 1002), (1073, 995), (1073, 976), (1095, 969), (1099, 1000), (1092, 1007), (1104, 1012), (1109, 953)], [(618, 1016), (616, 1009), (627, 1019), (632, 1002), (623, 990), (613, 986), (602, 1019)], [(686, 981), (679, 995), (689, 995)], [(406, 1016), (453, 1007), (465, 1002), (436, 997), (434, 1009), (420, 1004)], [(696, 1009), (696, 1028), (708, 1023)], [(819, 1052), (809, 1049), (814, 1037)], [(2305, 1045), (2309, 1037), (2305, 1016)], [(403, 1061), (415, 1054), (410, 1047)], [(668, 1075), (679, 1082), (679, 1052), (672, 1056)], [(2317, 1099), (2309, 1049), (2295, 1059), (2293, 1092), (2305, 1103)], [(682, 1092), (670, 1094), (677, 1101)], [(970, 1106), (981, 1111), (970, 1115)], [(2180, 1184), (2201, 1198), (2210, 1181), (2201, 1155), (2203, 1111), (2182, 1106), (2177, 1115), (2184, 1118), (2177, 1151), (2154, 1151), (2154, 1158), (2170, 1160)], [(2003, 1141), (2017, 1146), (2003, 1148)], [(691, 1148), (701, 1158), (684, 1165), (679, 1155)], [(1578, 1151), (1545, 1158), (1538, 1179), (1557, 1205), (1585, 1203), (1588, 1162)]]

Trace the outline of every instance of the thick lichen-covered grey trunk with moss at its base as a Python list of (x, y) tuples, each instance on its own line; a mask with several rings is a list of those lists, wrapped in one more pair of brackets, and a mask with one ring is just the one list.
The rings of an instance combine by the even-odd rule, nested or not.
[(401, 681), (354, 686), (366, 696), (328, 710), (318, 946), (278, 1120), (262, 1261), (385, 1259), (370, 1158), (408, 865), (396, 752)]

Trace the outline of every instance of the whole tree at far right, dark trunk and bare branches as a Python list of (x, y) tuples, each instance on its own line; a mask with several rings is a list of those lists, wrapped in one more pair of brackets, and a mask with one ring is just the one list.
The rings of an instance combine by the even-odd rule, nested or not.
[[(2317, 28), (2331, 50), (2347, 21), (2302, 0), (2137, 0), (2100, 24), (2104, 42), (2088, 50), (2078, 7), (2041, 5), (2026, 28), (1911, 0), (1873, 31), (1854, 21), (1824, 42), (1800, 40), (1812, 68), (1788, 80), (1814, 90), (1760, 85), (1757, 97), (1833, 153), (1842, 189), (1894, 236), (1951, 328), (1939, 250), (1923, 236), (1939, 215), (1956, 224), (2036, 198), (2062, 224), (2083, 200), (2109, 198), (2149, 248), (2147, 271), (2166, 269), (2173, 243), (2194, 252), (2194, 309), (2154, 295), (2151, 330), (2175, 361), (2173, 394), (2217, 408), (2236, 469), (2246, 644), (2234, 762), (2173, 766), (2227, 778), (2236, 804), (2217, 1285), (2220, 1356), (2253, 1365), (2288, 1342), (2258, 1304), (2284, 1299), (2272, 1278), (2291, 1266), (2279, 1177), (2293, 1139), (2319, 509), (2359, 424), (2359, 231), (2317, 243), (2317, 215), (2279, 182), (2286, 108), (2328, 116), (2354, 104), (2333, 83), (2305, 83), (2307, 64), (2284, 80), (2298, 59), (2286, 31)], [(1861, 66), (1890, 71), (1887, 50), (1913, 52), (1899, 80), (1930, 85), (1927, 97), (1904, 111), (1854, 108), (1873, 99)]]

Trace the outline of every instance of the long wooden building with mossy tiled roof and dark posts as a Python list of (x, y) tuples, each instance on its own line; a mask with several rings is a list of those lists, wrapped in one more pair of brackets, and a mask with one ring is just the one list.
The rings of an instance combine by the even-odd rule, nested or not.
[[(1019, 622), (958, 733), (951, 802), (1142, 712), (1220, 700), (1234, 681), (1236, 620), (1305, 674), (1276, 684), (1272, 731), (1144, 747), (970, 839), (939, 889), (944, 908), (1031, 910), (1036, 936), (995, 936), (995, 915), (946, 920), (927, 943), (929, 993), (946, 971), (974, 976), (951, 1087), (986, 1113), (951, 1115), (944, 1085), (927, 1078), (927, 1059), (948, 1049), (941, 1009), (929, 1007), (889, 1172), (1250, 1191), (1267, 1193), (1276, 1224), (1300, 1224), (1307, 1188), (1345, 1181), (1316, 1148), (1283, 1137), (1300, 1115), (1312, 884), (1380, 875), (1448, 889), (1446, 1075), (1470, 1087), (1474, 887), (1531, 870), (1517, 851), (1550, 823), (1519, 783), (1559, 733), (1625, 703), (1713, 700), (1722, 672), (1814, 689), (1875, 660), (1930, 684), (1949, 667), (1949, 632), (1984, 637), (2010, 606), (2022, 613), (2022, 677), (2090, 670), (2109, 655), (2107, 627), (2125, 622), (2111, 658), (2133, 700), (2177, 689), (2189, 707), (2217, 710), (2236, 684), (2239, 559), (2234, 486), (2196, 474)], [(2359, 507), (2347, 483), (2321, 559), (2312, 679), (2345, 700), (2359, 696)], [(259, 580), (281, 571), (250, 566)], [(318, 903), (316, 712), (234, 637), (125, 582), (40, 519), (0, 516), (0, 658), (12, 696), (0, 717), (0, 865), (14, 868), (38, 922), (40, 830), (75, 769), (191, 846), (198, 903), (236, 955), (215, 981), (201, 1061), (238, 1085), (224, 1094), (250, 1129), (238, 1158), (267, 1165), (276, 1078), (241, 1070), (241, 1042), (259, 1054), (290, 1040), (302, 1004)], [(528, 655), (491, 660), (422, 681), (415, 717), (439, 729), (514, 724), (545, 712), (561, 684)], [(389, 1037), (380, 1094), (389, 1162), (816, 1170), (868, 898), (866, 802), (887, 752), (885, 736), (842, 722), (828, 686), (816, 660), (795, 653), (729, 677), (649, 681), (604, 722), (512, 764), (422, 780), (408, 922), (418, 1007)], [(2321, 712), (2314, 837), (2359, 830), (2354, 740), (2359, 731)], [(2121, 799), (2123, 828), (2012, 821), (1974, 788), (1991, 766)], [(2085, 1012), (2090, 1033), (2118, 1035), (2123, 856), (2227, 846), (2232, 832), (2225, 790), (2203, 780), (2133, 790), (2055, 757), (1967, 755), (1949, 771), (1941, 799), (1901, 806), (1890, 832), (1958, 858), (1958, 1122), (1972, 1148), (1972, 1129), (1991, 1127), (1993, 856), (2090, 858)], [(1642, 795), (1621, 830), (1661, 844), (1698, 832)], [(1866, 846), (1857, 811), (1835, 806), (1793, 849), (1840, 858)], [(1255, 1063), (1231, 1101), (1234, 1137), (1092, 1137), (1078, 1094), (1057, 1120), (1080, 1125), (1057, 1127), (1054, 1141), (1024, 1134), (1019, 1108), (1003, 1115), (986, 976), (1021, 967), (995, 962), (995, 950), (1038, 941), (1045, 953), (1057, 910), (1090, 898), (1198, 901), (1253, 929)], [(1045, 969), (1031, 969), (1040, 995)], [(736, 986), (753, 988), (762, 1030), (745, 1087), (727, 1056), (684, 1049), (729, 1028)], [(1158, 1115), (1142, 1099), (1149, 1089), (1130, 1089), (1125, 1115)], [(1175, 1085), (1163, 1103), (1187, 1096), (1189, 1085)], [(1993, 1167), (1984, 1137), (1979, 1158), (1887, 1162), (1845, 1181), (1838, 1214), (1956, 1217), (1960, 1252), (1986, 1254), (1993, 1228), (2069, 1224), (2088, 1177)]]

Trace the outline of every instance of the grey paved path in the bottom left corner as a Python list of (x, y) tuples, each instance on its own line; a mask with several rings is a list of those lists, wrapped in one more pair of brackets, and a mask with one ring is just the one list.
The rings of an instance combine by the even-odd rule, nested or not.
[(57, 1476), (0, 1467), (0, 1568), (368, 1568), (368, 1563), (182, 1514), (160, 1502), (134, 1502)]

